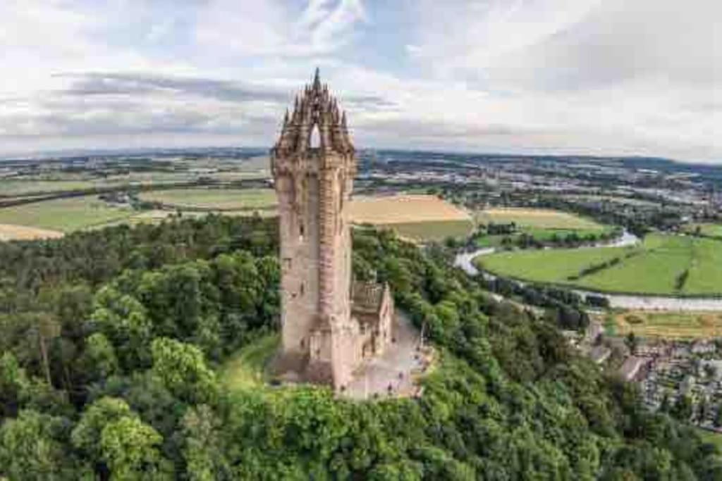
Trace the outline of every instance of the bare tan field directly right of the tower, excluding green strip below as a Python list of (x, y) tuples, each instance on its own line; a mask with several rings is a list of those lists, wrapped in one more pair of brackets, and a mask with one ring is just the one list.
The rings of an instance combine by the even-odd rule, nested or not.
[(351, 204), (351, 217), (358, 224), (471, 221), (468, 213), (434, 195), (357, 198)]

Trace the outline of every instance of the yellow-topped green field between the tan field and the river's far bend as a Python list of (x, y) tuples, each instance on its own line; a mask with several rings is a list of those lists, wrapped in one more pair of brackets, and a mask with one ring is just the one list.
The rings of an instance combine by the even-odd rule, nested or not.
[(576, 216), (573, 213), (539, 208), (490, 208), (477, 213), (479, 224), (515, 224), (513, 234), (490, 234), (477, 240), (479, 247), (497, 247), (505, 237), (518, 237), (526, 234), (540, 242), (554, 237), (563, 239), (570, 234), (578, 237), (610, 234), (614, 227), (599, 224), (592, 219)]

